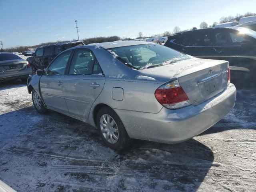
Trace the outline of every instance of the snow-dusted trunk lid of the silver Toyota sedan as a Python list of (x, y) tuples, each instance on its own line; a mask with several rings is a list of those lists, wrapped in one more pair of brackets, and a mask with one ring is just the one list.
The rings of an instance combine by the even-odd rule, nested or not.
[(227, 86), (228, 62), (193, 58), (140, 72), (162, 82), (178, 79), (190, 103), (197, 105), (212, 98)]

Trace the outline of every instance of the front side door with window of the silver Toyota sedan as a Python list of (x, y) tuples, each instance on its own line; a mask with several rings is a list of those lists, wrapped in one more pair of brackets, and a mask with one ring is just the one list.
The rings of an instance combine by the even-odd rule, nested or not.
[(72, 50), (60, 54), (40, 78), (42, 98), (47, 108), (67, 114), (68, 108), (63, 95), (63, 82)]

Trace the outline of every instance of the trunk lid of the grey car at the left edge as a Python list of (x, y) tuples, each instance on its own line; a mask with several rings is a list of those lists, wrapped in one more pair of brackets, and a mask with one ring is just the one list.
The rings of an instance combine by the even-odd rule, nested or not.
[(24, 59), (0, 61), (0, 70), (3, 72), (19, 71), (26, 68), (27, 62)]

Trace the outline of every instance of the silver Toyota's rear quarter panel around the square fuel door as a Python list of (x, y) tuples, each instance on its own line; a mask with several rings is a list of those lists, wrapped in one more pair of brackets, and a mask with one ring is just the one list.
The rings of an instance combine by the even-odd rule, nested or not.
[[(158, 113), (162, 105), (156, 100), (155, 90), (161, 84), (133, 81), (106, 80), (104, 88), (93, 103), (88, 121), (94, 125), (93, 111), (98, 104), (106, 104), (113, 109), (127, 110), (145, 113)], [(123, 100), (114, 100), (112, 98), (112, 89), (114, 87), (124, 90)]]

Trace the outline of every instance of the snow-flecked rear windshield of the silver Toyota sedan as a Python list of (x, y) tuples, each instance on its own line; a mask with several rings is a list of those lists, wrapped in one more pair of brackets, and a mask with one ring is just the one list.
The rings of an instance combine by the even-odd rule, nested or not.
[(108, 52), (135, 69), (153, 68), (191, 58), (191, 56), (159, 44), (110, 48)]

